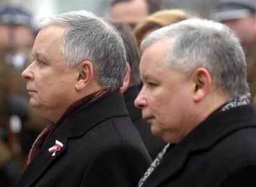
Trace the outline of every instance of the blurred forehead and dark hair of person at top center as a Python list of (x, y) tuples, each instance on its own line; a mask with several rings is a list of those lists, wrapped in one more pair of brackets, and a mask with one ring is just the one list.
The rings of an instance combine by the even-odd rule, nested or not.
[(126, 23), (134, 28), (149, 14), (160, 10), (161, 2), (161, 0), (113, 0), (110, 17), (115, 22)]

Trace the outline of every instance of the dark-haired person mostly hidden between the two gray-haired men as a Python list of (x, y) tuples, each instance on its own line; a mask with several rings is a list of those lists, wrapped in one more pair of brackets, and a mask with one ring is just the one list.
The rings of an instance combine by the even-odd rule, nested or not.
[(155, 137), (151, 134), (150, 125), (142, 119), (141, 109), (135, 108), (134, 106), (134, 100), (139, 94), (141, 87), (139, 74), (140, 56), (136, 48), (136, 41), (128, 25), (115, 22), (112, 22), (112, 24), (119, 31), (124, 41), (128, 62), (126, 77), (124, 78), (124, 84), (121, 87), (121, 92), (124, 94), (124, 101), (126, 102), (130, 119), (132, 119), (135, 127), (139, 130), (142, 140), (148, 149), (148, 153), (150, 153), (151, 158), (154, 159), (166, 143), (161, 140), (161, 138)]

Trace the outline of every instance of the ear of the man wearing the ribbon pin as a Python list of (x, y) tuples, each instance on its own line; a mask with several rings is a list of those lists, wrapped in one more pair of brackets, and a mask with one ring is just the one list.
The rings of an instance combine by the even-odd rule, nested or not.
[(79, 75), (77, 76), (77, 81), (75, 82), (75, 90), (78, 92), (83, 90), (93, 78), (93, 65), (90, 61), (83, 61), (77, 67)]

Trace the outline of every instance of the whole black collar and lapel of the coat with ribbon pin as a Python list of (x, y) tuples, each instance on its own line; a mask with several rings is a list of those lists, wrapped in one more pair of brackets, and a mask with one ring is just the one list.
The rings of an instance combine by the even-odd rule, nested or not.
[[(16, 186), (32, 186), (48, 169), (49, 165), (65, 153), (69, 137), (78, 137), (109, 117), (127, 115), (123, 96), (113, 94), (67, 118), (24, 170)], [(51, 156), (48, 149), (55, 145), (56, 140), (61, 141), (64, 146), (61, 151), (56, 153), (56, 156)]]

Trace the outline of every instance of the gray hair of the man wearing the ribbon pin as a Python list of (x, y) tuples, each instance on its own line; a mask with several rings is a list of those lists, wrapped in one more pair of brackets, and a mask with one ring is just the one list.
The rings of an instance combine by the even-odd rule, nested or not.
[(46, 18), (38, 26), (65, 26), (61, 52), (70, 67), (84, 60), (93, 64), (95, 78), (106, 89), (122, 86), (126, 73), (126, 50), (119, 33), (103, 18), (85, 10)]

